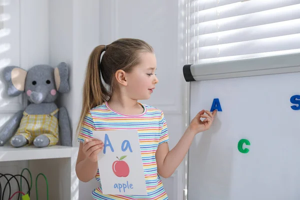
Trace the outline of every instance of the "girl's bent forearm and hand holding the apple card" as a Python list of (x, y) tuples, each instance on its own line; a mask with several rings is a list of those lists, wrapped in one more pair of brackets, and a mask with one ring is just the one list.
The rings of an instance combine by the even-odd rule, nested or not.
[(87, 139), (84, 144), (80, 142), (75, 171), (82, 182), (95, 177), (98, 170), (97, 154), (102, 148), (101, 140)]

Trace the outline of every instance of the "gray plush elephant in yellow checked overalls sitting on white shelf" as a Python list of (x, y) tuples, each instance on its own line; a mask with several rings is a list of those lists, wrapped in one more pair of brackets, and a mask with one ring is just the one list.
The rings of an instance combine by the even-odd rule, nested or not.
[(16, 112), (0, 132), (0, 146), (9, 139), (14, 147), (34, 144), (45, 147), (57, 144), (71, 146), (71, 131), (67, 110), (57, 108), (58, 93), (68, 92), (68, 67), (61, 62), (55, 68), (35, 65), (28, 71), (17, 66), (3, 70), (7, 94), (17, 96), (25, 92), (28, 105)]

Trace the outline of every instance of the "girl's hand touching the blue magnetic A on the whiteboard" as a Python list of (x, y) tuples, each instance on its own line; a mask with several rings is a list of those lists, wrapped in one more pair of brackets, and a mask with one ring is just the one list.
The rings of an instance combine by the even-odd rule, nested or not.
[[(206, 113), (206, 114), (204, 114)], [(202, 132), (204, 130), (208, 130), (213, 121), (213, 117), (216, 113), (216, 110), (213, 110), (211, 113), (208, 110), (201, 110), (197, 113), (197, 115), (191, 120), (188, 128), (194, 133)], [(203, 121), (200, 118), (205, 118)]]

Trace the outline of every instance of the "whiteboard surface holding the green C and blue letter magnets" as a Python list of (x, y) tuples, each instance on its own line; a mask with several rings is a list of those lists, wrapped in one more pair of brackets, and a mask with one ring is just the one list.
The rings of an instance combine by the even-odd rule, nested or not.
[(190, 82), (190, 120), (214, 98), (222, 111), (190, 146), (188, 200), (300, 199), (297, 94), (298, 72)]

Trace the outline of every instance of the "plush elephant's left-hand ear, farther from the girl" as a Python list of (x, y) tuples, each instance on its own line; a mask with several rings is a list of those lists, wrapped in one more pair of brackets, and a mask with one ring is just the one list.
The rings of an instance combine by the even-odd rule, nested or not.
[(8, 84), (7, 94), (17, 96), (24, 91), (27, 71), (18, 66), (6, 66), (3, 69), (3, 76)]

